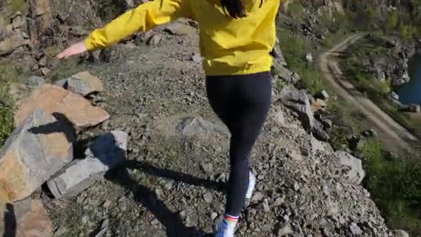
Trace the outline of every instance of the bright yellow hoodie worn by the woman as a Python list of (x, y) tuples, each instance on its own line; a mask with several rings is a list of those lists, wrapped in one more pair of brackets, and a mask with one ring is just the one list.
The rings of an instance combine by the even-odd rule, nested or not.
[(245, 0), (247, 17), (233, 19), (220, 0), (154, 0), (138, 6), (93, 30), (84, 41), (88, 50), (114, 44), (138, 31), (180, 17), (200, 26), (200, 52), (207, 76), (240, 75), (269, 71), (269, 52), (276, 42), (275, 17), (281, 0)]

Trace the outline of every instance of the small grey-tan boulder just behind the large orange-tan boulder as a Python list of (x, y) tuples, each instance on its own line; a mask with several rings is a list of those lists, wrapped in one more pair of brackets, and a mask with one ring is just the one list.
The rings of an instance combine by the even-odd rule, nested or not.
[(64, 89), (68, 89), (81, 96), (88, 96), (89, 94), (104, 90), (100, 78), (92, 76), (87, 71), (82, 71), (68, 79), (59, 80), (55, 85), (62, 85)]

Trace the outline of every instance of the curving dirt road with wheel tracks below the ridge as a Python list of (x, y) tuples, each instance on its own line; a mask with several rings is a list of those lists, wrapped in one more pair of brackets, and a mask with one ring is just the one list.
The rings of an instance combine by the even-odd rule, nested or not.
[(339, 67), (336, 57), (361, 37), (362, 35), (358, 34), (352, 35), (329, 51), (323, 53), (319, 60), (321, 71), (323, 71), (325, 78), (329, 80), (337, 94), (359, 108), (370, 119), (373, 127), (379, 133), (379, 137), (382, 138), (387, 148), (394, 152), (402, 149), (409, 150), (411, 149), (411, 143), (418, 141), (418, 139), (348, 82)]

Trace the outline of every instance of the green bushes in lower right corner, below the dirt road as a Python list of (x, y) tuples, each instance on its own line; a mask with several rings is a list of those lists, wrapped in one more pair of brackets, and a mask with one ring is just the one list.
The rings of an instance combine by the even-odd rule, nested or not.
[(393, 229), (409, 229), (414, 236), (421, 234), (421, 165), (409, 159), (388, 159), (378, 139), (368, 140), (362, 153), (367, 173), (364, 184), (388, 224)]

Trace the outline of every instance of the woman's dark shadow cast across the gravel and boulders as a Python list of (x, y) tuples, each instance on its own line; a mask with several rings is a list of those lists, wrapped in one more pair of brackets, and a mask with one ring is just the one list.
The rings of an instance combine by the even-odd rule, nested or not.
[[(53, 114), (57, 119), (57, 122), (39, 126), (37, 128), (31, 128), (29, 131), (33, 134), (49, 134), (52, 132), (64, 132), (69, 141), (74, 141), (74, 131), (69, 132), (69, 129), (60, 128), (60, 123), (58, 121), (65, 121), (69, 124), (69, 119), (64, 116), (64, 114)], [(97, 157), (103, 164), (114, 167), (114, 159), (109, 159), (108, 156), (123, 156), (125, 158), (125, 150), (120, 148), (120, 144), (116, 142), (116, 137), (114, 134), (107, 133), (101, 135), (102, 140), (94, 140), (90, 144), (89, 148), (94, 157)], [(77, 149), (77, 148), (76, 148)], [(78, 157), (79, 158), (79, 157)], [(120, 166), (109, 170), (105, 174), (105, 178), (115, 184), (123, 186), (128, 191), (131, 191), (134, 196), (134, 200), (143, 205), (148, 211), (152, 212), (157, 220), (165, 226), (167, 236), (169, 237), (196, 237), (196, 236), (213, 236), (213, 234), (206, 234), (201, 231), (198, 231), (194, 227), (186, 227), (183, 224), (183, 220), (178, 213), (170, 211), (166, 207), (165, 203), (159, 200), (156, 197), (154, 191), (138, 184), (128, 173), (127, 169), (139, 169), (145, 173), (151, 175), (156, 175), (159, 177), (165, 177), (167, 179), (174, 179), (178, 182), (185, 182), (186, 184), (195, 185), (195, 186), (204, 186), (205, 188), (215, 189), (217, 191), (224, 191), (225, 184), (212, 182), (208, 179), (201, 179), (193, 177), (192, 175), (179, 173), (174, 170), (168, 170), (165, 168), (156, 168), (150, 164), (140, 163), (137, 161), (128, 161), (125, 160)], [(97, 229), (90, 236), (96, 236), (100, 229)], [(10, 235), (11, 237), (14, 237)], [(10, 237), (4, 236), (4, 237)]]

